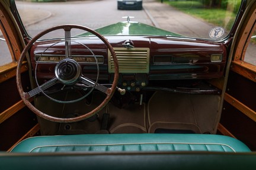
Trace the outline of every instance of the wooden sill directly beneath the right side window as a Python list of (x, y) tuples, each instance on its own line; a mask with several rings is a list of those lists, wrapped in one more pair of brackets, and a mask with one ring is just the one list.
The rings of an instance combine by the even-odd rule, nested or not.
[(256, 66), (245, 61), (232, 61), (231, 70), (256, 83)]

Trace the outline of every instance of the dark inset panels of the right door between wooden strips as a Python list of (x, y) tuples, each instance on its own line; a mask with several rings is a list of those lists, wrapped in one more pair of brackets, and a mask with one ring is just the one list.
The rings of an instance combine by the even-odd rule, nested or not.
[[(256, 110), (255, 82), (231, 71), (226, 93), (252, 110)], [(250, 149), (256, 149), (256, 123), (231, 103), (224, 102), (220, 123), (236, 138), (246, 143)]]

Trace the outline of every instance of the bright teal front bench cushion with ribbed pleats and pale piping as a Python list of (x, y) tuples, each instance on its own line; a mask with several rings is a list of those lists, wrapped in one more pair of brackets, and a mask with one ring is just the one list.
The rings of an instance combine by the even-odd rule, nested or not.
[(95, 134), (37, 136), (18, 143), (11, 152), (213, 151), (249, 152), (241, 141), (202, 134)]

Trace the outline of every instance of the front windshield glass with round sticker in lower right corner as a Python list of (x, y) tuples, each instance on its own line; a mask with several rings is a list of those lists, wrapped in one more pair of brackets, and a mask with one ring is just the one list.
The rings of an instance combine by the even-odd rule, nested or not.
[[(229, 34), (241, 5), (239, 0), (15, 2), (30, 37), (56, 25), (78, 24), (103, 35), (167, 35), (213, 40)], [(73, 35), (88, 34), (74, 32)], [(50, 36), (63, 37), (57, 32)]]

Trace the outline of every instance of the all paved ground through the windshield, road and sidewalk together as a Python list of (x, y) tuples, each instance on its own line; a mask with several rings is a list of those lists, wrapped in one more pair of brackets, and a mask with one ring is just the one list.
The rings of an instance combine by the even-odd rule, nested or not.
[[(21, 18), (24, 18), (24, 24), (28, 25), (27, 31), (31, 37), (55, 25), (79, 24), (95, 29), (124, 21), (122, 17), (125, 16), (135, 17), (133, 21), (190, 37), (209, 38), (209, 31), (215, 27), (155, 0), (143, 0), (144, 10), (117, 10), (117, 0), (48, 3), (17, 1), (17, 8)], [(35, 21), (38, 22), (34, 24)]]

